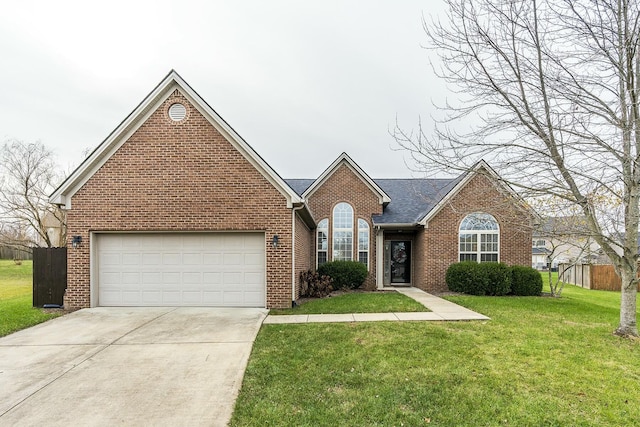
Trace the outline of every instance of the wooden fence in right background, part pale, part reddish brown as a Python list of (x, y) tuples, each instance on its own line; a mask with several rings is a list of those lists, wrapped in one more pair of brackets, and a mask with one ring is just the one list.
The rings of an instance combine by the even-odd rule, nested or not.
[(622, 287), (620, 277), (611, 264), (560, 264), (558, 276), (565, 283), (587, 289), (619, 292)]

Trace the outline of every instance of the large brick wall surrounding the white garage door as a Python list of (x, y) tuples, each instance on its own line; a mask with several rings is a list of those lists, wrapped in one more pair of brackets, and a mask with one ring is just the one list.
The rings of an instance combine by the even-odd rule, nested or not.
[[(182, 122), (168, 118), (174, 102)], [(65, 303), (88, 307), (92, 231), (263, 231), (267, 307), (291, 305), (291, 209), (276, 190), (178, 91), (73, 196)], [(279, 236), (277, 248), (271, 245)]]

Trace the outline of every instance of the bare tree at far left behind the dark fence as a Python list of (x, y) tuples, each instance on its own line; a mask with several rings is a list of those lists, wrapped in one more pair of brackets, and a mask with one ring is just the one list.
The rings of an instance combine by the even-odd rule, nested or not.
[(64, 211), (49, 203), (60, 181), (51, 151), (41, 142), (4, 143), (0, 156), (0, 218), (6, 246), (64, 246)]

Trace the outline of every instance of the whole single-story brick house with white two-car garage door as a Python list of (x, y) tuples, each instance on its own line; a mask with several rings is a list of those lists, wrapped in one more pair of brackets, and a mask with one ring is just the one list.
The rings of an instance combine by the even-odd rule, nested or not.
[(374, 180), (343, 153), (284, 180), (174, 71), (51, 201), (67, 210), (68, 307), (288, 307), (300, 272), (332, 260), (367, 265), (369, 288), (438, 292), (458, 260), (531, 259), (531, 213), (484, 162)]

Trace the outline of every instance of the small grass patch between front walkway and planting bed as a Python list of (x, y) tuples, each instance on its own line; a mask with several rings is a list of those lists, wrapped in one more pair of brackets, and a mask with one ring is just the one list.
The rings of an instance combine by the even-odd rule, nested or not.
[(397, 292), (354, 292), (313, 299), (295, 308), (271, 310), (269, 314), (397, 313), (429, 311), (425, 306)]

